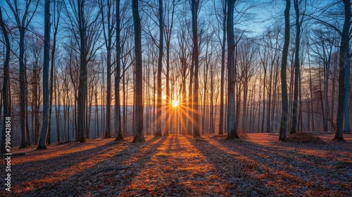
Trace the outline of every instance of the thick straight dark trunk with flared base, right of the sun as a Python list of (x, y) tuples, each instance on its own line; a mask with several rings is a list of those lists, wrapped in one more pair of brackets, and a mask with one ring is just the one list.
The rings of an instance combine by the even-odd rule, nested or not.
[(234, 106), (234, 2), (227, 1), (227, 137), (226, 139), (238, 139), (236, 130), (236, 110)]

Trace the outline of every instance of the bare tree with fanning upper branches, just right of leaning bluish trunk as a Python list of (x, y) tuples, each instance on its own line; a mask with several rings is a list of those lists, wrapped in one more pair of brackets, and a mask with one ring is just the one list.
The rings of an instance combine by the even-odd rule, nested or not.
[[(77, 139), (85, 142), (89, 132), (87, 127), (87, 95), (88, 95), (88, 65), (94, 61), (96, 51), (100, 48), (98, 39), (101, 28), (99, 26), (100, 13), (97, 11), (96, 3), (87, 0), (67, 0), (65, 4), (65, 23), (73, 34), (74, 46), (79, 49), (73, 51), (79, 53), (80, 58), (76, 62), (79, 64), (77, 76)], [(78, 34), (77, 34), (78, 32)]]

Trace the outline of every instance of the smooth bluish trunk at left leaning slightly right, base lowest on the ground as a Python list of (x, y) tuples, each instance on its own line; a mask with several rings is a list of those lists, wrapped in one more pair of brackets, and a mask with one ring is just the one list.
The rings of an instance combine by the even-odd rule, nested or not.
[(50, 0), (44, 3), (43, 122), (37, 150), (46, 149), (49, 130)]

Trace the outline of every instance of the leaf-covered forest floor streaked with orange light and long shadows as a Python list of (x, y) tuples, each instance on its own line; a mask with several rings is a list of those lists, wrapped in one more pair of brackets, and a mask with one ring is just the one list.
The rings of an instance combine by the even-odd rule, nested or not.
[[(352, 134), (344, 134), (345, 142), (332, 141), (332, 133), (296, 134), (289, 142), (278, 142), (277, 134), (224, 137), (146, 136), (139, 143), (127, 137), (42, 151), (13, 148), (25, 155), (11, 158), (11, 194), (352, 196)], [(0, 196), (8, 194), (0, 190)]]

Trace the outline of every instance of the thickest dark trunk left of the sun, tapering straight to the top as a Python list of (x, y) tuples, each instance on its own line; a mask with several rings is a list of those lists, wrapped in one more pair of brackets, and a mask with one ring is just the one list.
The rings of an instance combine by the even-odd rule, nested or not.
[(134, 26), (134, 56), (135, 56), (135, 125), (133, 141), (144, 141), (143, 134), (143, 72), (142, 72), (142, 42), (141, 18), (139, 18), (138, 0), (132, 1), (132, 15)]

